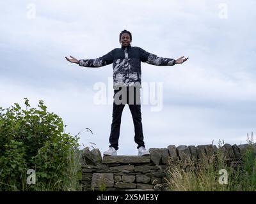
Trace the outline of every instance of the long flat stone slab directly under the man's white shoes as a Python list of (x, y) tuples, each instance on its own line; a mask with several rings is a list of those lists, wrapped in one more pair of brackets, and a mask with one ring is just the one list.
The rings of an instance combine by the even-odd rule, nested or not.
[(150, 156), (104, 156), (104, 164), (150, 163)]

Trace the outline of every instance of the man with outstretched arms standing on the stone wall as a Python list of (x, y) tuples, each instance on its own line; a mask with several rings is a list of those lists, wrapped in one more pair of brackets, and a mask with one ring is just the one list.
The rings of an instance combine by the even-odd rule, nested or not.
[(182, 64), (187, 61), (188, 58), (184, 58), (183, 56), (175, 60), (157, 57), (157, 55), (150, 54), (140, 47), (131, 47), (132, 34), (127, 30), (120, 33), (119, 42), (122, 46), (121, 48), (115, 48), (108, 54), (97, 59), (77, 60), (72, 56), (70, 56), (70, 58), (66, 57), (66, 59), (69, 62), (79, 64), (79, 66), (91, 68), (98, 68), (113, 63), (113, 85), (115, 89), (112, 115), (113, 119), (111, 124), (111, 133), (109, 136), (109, 150), (104, 152), (104, 155), (116, 155), (120, 135), (121, 117), (125, 103), (129, 105), (129, 109), (132, 113), (135, 132), (134, 140), (138, 144), (138, 155), (149, 155), (149, 152), (145, 149), (141, 123), (141, 62), (147, 62), (148, 64), (157, 66), (173, 66), (174, 64)]

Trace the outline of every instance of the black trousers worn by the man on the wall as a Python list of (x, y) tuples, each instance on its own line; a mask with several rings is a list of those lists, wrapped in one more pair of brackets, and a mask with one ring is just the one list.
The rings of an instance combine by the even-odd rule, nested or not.
[(143, 130), (141, 122), (140, 88), (138, 87), (120, 87), (114, 90), (114, 103), (112, 113), (111, 133), (109, 136), (109, 147), (118, 150), (118, 140), (120, 136), (121, 117), (125, 104), (129, 105), (134, 124), (134, 141), (138, 144), (138, 149), (143, 146)]

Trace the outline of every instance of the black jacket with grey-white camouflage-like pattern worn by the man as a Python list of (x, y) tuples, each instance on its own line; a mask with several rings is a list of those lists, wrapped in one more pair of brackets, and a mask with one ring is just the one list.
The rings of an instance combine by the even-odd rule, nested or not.
[(115, 48), (111, 52), (97, 59), (81, 59), (79, 66), (99, 68), (113, 63), (113, 85), (115, 87), (141, 87), (141, 62), (157, 66), (173, 66), (174, 59), (157, 57), (140, 47)]

